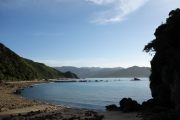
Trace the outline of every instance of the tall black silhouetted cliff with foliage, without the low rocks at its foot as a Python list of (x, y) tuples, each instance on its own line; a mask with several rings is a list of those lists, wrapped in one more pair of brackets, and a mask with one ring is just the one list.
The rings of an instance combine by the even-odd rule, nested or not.
[(180, 109), (180, 9), (169, 13), (166, 23), (145, 46), (155, 52), (151, 61), (150, 89), (158, 105)]

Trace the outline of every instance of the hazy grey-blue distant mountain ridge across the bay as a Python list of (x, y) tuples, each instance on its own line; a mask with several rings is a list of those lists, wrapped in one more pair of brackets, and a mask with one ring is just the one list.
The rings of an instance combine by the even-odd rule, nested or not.
[(66, 72), (71, 71), (77, 74), (80, 78), (108, 78), (108, 77), (149, 77), (149, 67), (132, 66), (129, 68), (100, 68), (100, 67), (73, 67), (63, 66), (55, 67), (55, 69)]

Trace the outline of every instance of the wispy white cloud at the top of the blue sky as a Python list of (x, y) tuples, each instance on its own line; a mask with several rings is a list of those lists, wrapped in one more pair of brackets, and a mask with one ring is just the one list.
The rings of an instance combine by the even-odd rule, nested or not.
[(99, 6), (111, 5), (106, 11), (97, 12), (92, 22), (99, 24), (121, 22), (132, 12), (143, 6), (148, 0), (86, 0)]

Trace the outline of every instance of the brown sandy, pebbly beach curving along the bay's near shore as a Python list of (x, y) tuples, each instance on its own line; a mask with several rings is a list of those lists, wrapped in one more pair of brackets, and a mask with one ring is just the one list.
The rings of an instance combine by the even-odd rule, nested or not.
[(43, 81), (7, 82), (0, 84), (0, 120), (141, 120), (137, 113), (94, 112), (32, 101), (14, 94), (18, 89)]

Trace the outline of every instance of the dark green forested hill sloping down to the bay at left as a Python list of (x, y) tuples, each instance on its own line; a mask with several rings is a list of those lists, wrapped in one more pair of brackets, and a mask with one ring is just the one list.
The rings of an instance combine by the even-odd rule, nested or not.
[(71, 72), (60, 72), (45, 64), (20, 57), (0, 43), (0, 80), (34, 80), (78, 78)]

